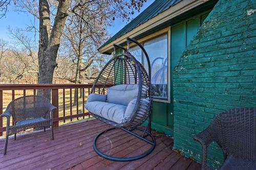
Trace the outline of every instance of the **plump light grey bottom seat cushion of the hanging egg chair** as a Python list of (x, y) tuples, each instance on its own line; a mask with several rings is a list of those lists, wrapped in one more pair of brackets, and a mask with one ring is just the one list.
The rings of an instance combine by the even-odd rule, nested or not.
[(93, 114), (111, 120), (117, 124), (123, 124), (127, 121), (124, 116), (126, 106), (106, 102), (87, 102), (86, 109)]

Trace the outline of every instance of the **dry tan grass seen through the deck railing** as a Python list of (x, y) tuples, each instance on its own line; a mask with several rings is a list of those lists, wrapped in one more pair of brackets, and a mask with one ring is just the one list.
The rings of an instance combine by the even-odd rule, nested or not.
[[(19, 98), (23, 96), (23, 90), (15, 90), (14, 92), (14, 99)], [(74, 102), (74, 94), (75, 94), (75, 89), (72, 89), (72, 99), (70, 99), (70, 89), (65, 89), (65, 115), (69, 116), (70, 114), (70, 107), (72, 107), (72, 114), (78, 114), (83, 113), (83, 106), (82, 106), (82, 98), (78, 98), (78, 110), (77, 106), (73, 106)], [(26, 90), (26, 95), (33, 95), (33, 90)], [(78, 91), (79, 95), (79, 91)], [(84, 89), (84, 103), (87, 101), (88, 97), (88, 89)], [(58, 100), (59, 100), (59, 117), (63, 117), (63, 90), (59, 89), (58, 92)], [(70, 105), (70, 100), (72, 100), (72, 105)], [(12, 101), (12, 91), (11, 90), (5, 90), (3, 91), (3, 112), (6, 110), (6, 107), (8, 104)], [(84, 112), (87, 112), (87, 110), (84, 110)], [(91, 116), (92, 117), (92, 116)], [(85, 119), (89, 119), (89, 116), (85, 116)], [(76, 122), (77, 120), (82, 120), (83, 117), (79, 118), (73, 118), (72, 121), (71, 119), (67, 119), (65, 122), (63, 120), (59, 121), (59, 126), (63, 124), (68, 124), (71, 122)], [(10, 122), (10, 125), (12, 125), (12, 120)], [(6, 118), (3, 118), (3, 127), (6, 127)], [(30, 131), (30, 130), (28, 130)]]

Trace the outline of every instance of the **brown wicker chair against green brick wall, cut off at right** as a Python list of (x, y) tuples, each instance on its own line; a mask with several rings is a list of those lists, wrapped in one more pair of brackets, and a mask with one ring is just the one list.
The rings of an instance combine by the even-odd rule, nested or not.
[(215, 141), (224, 153), (221, 170), (256, 169), (256, 108), (236, 108), (217, 115), (212, 123), (194, 137), (202, 144), (202, 169), (206, 165), (207, 147)]

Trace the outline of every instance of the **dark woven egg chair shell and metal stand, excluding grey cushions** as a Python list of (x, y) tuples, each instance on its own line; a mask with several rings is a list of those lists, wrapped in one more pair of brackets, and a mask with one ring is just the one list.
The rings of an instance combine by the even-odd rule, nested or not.
[[(143, 67), (143, 65), (135, 59), (131, 53), (129, 53), (129, 42), (132, 41), (137, 44), (146, 57), (148, 72)], [(91, 89), (91, 93), (96, 94), (108, 94), (108, 88), (118, 84), (124, 85), (137, 85), (138, 86), (138, 95), (136, 103), (134, 103), (134, 109), (131, 114), (131, 117), (124, 123), (116, 123), (113, 120), (104, 118), (97, 114), (92, 113), (95, 118), (102, 120), (103, 122), (110, 124), (114, 127), (106, 129), (100, 132), (94, 139), (93, 148), (95, 152), (101, 157), (113, 161), (133, 161), (141, 159), (148, 154), (150, 154), (156, 147), (155, 137), (151, 134), (151, 110), (152, 110), (152, 86), (151, 86), (151, 68), (150, 60), (144, 49), (144, 47), (132, 38), (127, 38), (127, 50), (126, 48), (113, 44), (114, 53), (113, 58), (102, 68), (99, 73), (99, 76), (94, 82), (94, 85)], [(115, 48), (121, 48), (125, 53), (120, 55), (115, 54)], [(142, 123), (147, 121), (147, 126), (143, 129), (140, 128)], [(151, 144), (151, 148), (145, 151), (144, 153), (134, 156), (134, 157), (113, 157), (106, 155), (97, 148), (97, 140), (101, 135), (106, 132), (121, 129), (126, 133), (129, 133), (146, 143)], [(139, 133), (138, 133), (139, 132)]]

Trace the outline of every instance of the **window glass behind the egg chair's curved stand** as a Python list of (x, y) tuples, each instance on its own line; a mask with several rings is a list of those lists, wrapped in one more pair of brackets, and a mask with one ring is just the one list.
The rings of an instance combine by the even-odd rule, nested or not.
[[(151, 83), (153, 98), (168, 100), (168, 35), (164, 34), (143, 42), (151, 62)], [(130, 48), (130, 53), (142, 62), (148, 71), (146, 58), (138, 46)]]

